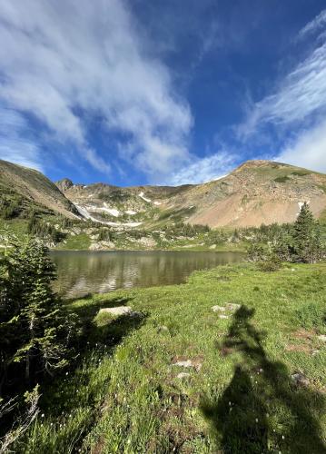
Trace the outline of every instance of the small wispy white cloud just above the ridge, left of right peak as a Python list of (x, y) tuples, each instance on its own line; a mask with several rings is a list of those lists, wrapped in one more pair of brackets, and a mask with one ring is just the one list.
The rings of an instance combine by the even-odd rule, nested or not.
[(202, 159), (195, 159), (193, 163), (173, 173), (167, 180), (167, 184), (178, 186), (189, 183), (206, 183), (217, 180), (229, 173), (236, 163), (237, 157), (232, 153), (221, 151)]

